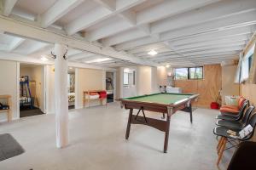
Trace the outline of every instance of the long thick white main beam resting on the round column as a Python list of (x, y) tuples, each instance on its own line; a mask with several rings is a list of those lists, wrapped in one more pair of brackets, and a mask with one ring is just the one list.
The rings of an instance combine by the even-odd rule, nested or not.
[(152, 62), (137, 59), (131, 54), (125, 52), (118, 52), (113, 48), (104, 48), (94, 43), (86, 42), (83, 39), (76, 39), (74, 37), (68, 37), (59, 32), (42, 29), (39, 26), (32, 26), (28, 23), (13, 20), (3, 15), (0, 15), (0, 30), (9, 32), (11, 34), (19, 35), (21, 37), (28, 37), (31, 39), (37, 39), (42, 42), (61, 43), (66, 44), (70, 48), (78, 48), (82, 51), (88, 51), (94, 54), (102, 54), (116, 59), (125, 59), (133, 63), (142, 65), (155, 65)]

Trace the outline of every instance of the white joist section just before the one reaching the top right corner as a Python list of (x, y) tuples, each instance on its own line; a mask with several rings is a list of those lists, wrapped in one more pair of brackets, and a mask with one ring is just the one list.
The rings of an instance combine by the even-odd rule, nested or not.
[(137, 25), (147, 24), (156, 20), (161, 20), (175, 14), (181, 14), (194, 8), (200, 8), (219, 0), (172, 0), (164, 1), (137, 13)]

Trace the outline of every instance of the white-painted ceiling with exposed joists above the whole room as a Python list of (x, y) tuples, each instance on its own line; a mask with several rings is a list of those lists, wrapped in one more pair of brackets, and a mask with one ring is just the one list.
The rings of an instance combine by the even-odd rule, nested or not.
[[(205, 65), (236, 59), (256, 31), (255, 0), (5, 0), (3, 14), (111, 47), (155, 65)], [(29, 21), (30, 20), (30, 21)], [(148, 55), (154, 49), (158, 54)], [(53, 44), (0, 33), (0, 50), (40, 58)], [(133, 65), (70, 48), (71, 61)], [(111, 58), (99, 62), (101, 59)]]

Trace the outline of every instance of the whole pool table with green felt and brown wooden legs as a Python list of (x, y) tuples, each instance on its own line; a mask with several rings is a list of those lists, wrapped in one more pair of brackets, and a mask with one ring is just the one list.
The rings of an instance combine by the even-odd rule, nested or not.
[[(154, 127), (165, 132), (164, 152), (167, 152), (169, 129), (171, 116), (176, 111), (189, 112), (190, 122), (193, 122), (192, 103), (199, 94), (147, 94), (131, 98), (120, 99), (121, 107), (130, 110), (125, 139), (129, 138), (131, 124), (143, 124)], [(137, 109), (137, 114), (133, 115), (133, 110)], [(150, 118), (144, 111), (154, 111), (163, 114), (162, 119)], [(143, 113), (139, 116), (140, 112)], [(165, 116), (166, 115), (166, 116)]]

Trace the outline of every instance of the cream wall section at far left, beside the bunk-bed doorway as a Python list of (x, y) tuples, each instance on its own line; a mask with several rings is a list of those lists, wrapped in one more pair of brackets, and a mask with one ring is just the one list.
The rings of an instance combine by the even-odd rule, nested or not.
[[(17, 62), (0, 60), (0, 95), (9, 94), (12, 96), (13, 119), (19, 117), (19, 112), (17, 112), (17, 69), (19, 69)], [(0, 122), (6, 120), (6, 114), (0, 113)]]

